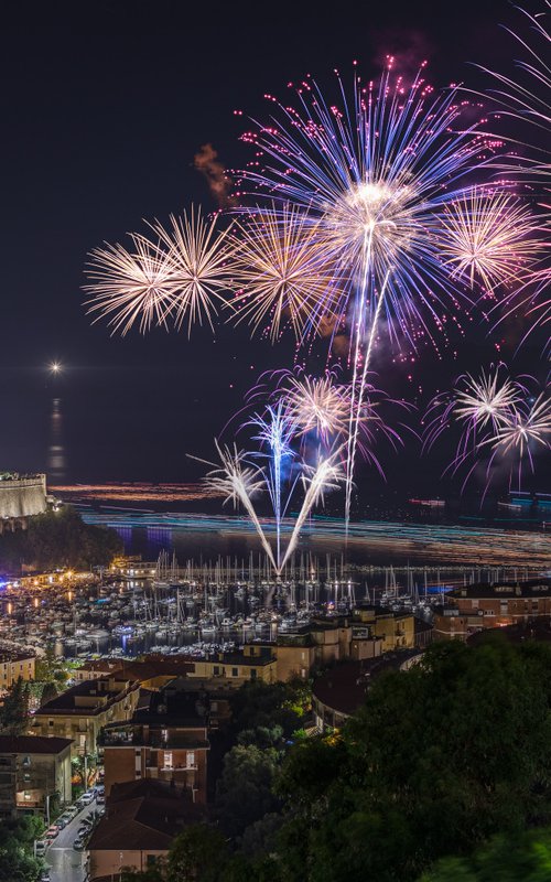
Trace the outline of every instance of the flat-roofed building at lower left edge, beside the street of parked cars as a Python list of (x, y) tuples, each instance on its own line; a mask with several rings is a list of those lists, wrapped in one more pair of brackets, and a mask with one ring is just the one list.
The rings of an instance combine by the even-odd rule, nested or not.
[(0, 818), (44, 815), (50, 799), (71, 802), (71, 744), (65, 738), (0, 735)]

